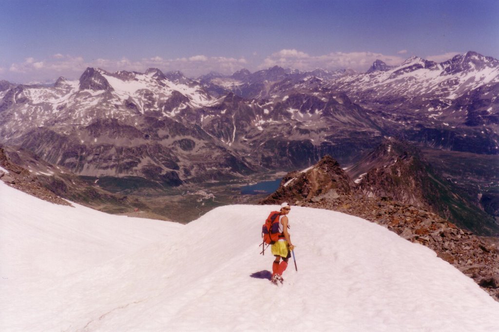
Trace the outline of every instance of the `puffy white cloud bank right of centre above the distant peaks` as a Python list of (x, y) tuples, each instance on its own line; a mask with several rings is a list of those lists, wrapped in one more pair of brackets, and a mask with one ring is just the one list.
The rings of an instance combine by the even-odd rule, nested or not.
[(372, 52), (332, 52), (312, 56), (295, 49), (283, 49), (266, 57), (259, 68), (265, 69), (277, 65), (299, 70), (351, 68), (362, 71), (368, 69), (377, 59), (384, 61), (388, 65), (398, 65), (404, 60), (399, 56)]

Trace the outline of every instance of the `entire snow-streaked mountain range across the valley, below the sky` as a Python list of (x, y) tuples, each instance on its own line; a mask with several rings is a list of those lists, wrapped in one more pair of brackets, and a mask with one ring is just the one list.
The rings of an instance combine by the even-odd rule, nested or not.
[[(353, 166), (387, 137), (479, 161), (499, 154), (498, 90), (499, 61), (471, 51), (442, 63), (377, 60), (366, 73), (275, 66), (190, 79), (87, 68), (51, 87), (0, 81), (0, 143), (135, 191), (302, 169), (325, 155)], [(433, 166), (457, 181), (452, 165)], [(494, 210), (497, 182), (486, 184), (461, 189)]]

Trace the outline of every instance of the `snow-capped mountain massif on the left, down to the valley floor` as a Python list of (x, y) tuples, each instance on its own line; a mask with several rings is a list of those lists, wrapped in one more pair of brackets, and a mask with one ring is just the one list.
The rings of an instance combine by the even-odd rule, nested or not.
[[(80, 175), (139, 176), (175, 186), (197, 172), (207, 178), (231, 168), (250, 171), (252, 166), (186, 119), (193, 109), (214, 103), (180, 72), (87, 68), (76, 82), (61, 78), (53, 87), (4, 91), (0, 133), (9, 145)], [(186, 116), (175, 120), (181, 113)]]

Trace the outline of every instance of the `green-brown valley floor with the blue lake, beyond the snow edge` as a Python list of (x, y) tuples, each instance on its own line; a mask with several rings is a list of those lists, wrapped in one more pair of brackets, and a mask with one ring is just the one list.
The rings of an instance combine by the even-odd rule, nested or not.
[[(99, 186), (126, 196), (131, 205), (102, 204), (99, 210), (133, 217), (189, 223), (223, 205), (258, 204), (273, 193), (286, 171), (252, 174), (244, 178), (186, 183), (179, 187), (145, 185), (140, 179), (99, 178)], [(89, 182), (95, 178), (85, 178)]]

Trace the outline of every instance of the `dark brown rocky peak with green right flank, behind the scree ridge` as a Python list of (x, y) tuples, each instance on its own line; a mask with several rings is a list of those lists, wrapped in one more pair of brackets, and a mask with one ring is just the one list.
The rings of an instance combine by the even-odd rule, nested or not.
[(494, 218), (440, 176), (419, 149), (407, 142), (386, 140), (352, 167), (356, 175), (362, 170), (365, 173), (356, 180), (357, 189), (368, 197), (389, 197), (433, 211), (478, 234), (499, 234)]

